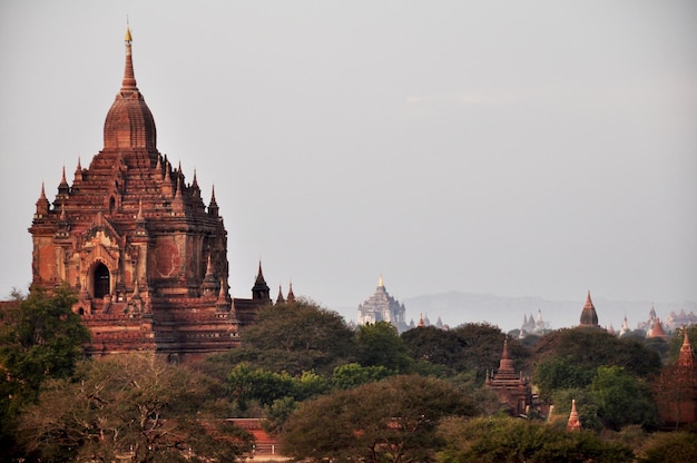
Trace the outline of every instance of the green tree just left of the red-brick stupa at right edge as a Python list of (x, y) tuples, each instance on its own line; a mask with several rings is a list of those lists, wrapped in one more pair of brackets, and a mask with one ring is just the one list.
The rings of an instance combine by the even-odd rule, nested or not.
[(598, 416), (615, 431), (629, 424), (652, 427), (658, 411), (648, 384), (629, 375), (619, 366), (600, 366), (589, 391), (598, 404)]

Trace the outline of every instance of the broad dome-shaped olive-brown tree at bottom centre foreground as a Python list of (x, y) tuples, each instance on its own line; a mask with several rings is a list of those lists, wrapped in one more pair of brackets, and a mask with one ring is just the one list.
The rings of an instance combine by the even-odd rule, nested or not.
[(304, 402), (285, 423), (281, 442), (295, 459), (429, 461), (440, 446), (438, 422), (474, 413), (448, 382), (393, 376)]

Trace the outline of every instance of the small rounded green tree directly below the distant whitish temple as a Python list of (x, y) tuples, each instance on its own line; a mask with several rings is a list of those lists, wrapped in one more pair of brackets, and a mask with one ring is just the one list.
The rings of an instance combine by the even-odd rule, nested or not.
[(359, 326), (356, 359), (363, 366), (384, 366), (395, 373), (408, 373), (413, 362), (396, 328), (387, 322)]

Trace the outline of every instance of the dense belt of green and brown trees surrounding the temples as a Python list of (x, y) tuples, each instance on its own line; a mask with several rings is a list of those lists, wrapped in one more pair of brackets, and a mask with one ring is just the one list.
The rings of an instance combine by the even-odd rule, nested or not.
[[(234, 461), (264, 418), (286, 454), (334, 461), (688, 461), (697, 431), (657, 433), (659, 346), (600, 329), (508, 339), (540, 410), (509, 418), (484, 386), (507, 335), (489, 324), (399, 335), (350, 327), (308, 301), (262, 309), (242, 347), (192, 365), (153, 354), (82, 358), (71, 295), (32, 293), (2, 313), (4, 461)], [(690, 335), (697, 335), (691, 332)], [(696, 339), (697, 341), (697, 339)], [(571, 400), (583, 423), (566, 431)], [(548, 412), (548, 405), (554, 405)], [(670, 447), (670, 452), (661, 449)], [(666, 460), (671, 455), (679, 460)], [(662, 460), (661, 460), (662, 459)]]

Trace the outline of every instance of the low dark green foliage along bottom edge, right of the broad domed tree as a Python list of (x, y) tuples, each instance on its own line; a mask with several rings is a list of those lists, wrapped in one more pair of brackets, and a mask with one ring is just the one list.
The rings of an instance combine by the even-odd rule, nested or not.
[(514, 418), (451, 417), (439, 426), (448, 442), (436, 461), (443, 463), (627, 462), (627, 446), (605, 443), (595, 433), (567, 432), (544, 423)]

